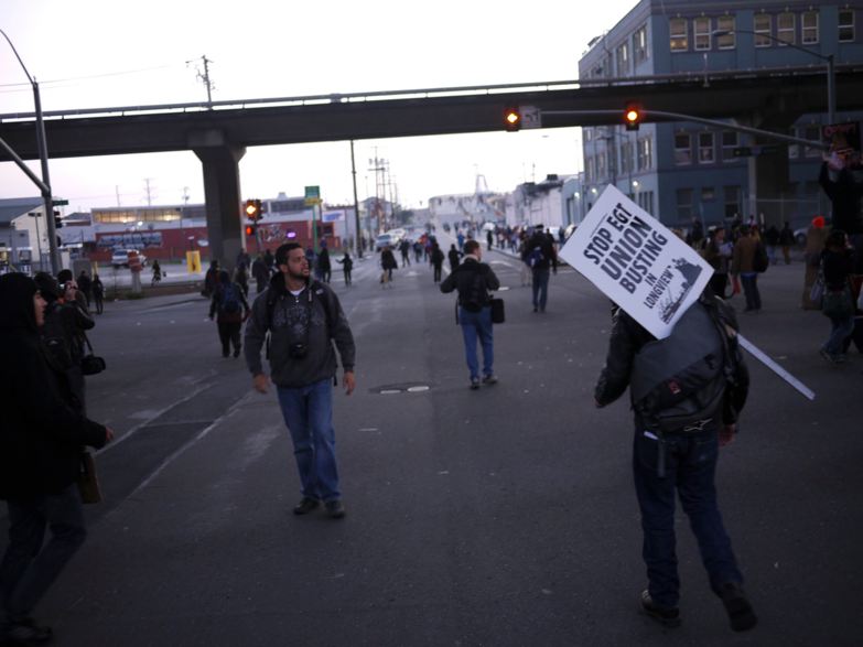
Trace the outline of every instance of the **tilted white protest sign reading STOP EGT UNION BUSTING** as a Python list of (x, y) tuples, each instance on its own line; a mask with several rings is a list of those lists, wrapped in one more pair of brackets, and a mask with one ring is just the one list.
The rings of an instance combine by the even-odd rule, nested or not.
[(612, 185), (560, 256), (659, 339), (671, 334), (713, 273), (694, 249)]

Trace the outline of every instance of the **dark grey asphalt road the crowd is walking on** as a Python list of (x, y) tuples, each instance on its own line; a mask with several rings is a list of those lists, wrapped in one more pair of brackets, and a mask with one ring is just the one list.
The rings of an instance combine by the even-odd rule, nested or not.
[(335, 396), (341, 521), (291, 515), (299, 481), (276, 398), (220, 357), (205, 300), (108, 303), (91, 335), (108, 370), (88, 399), (119, 439), (97, 456), (107, 499), (88, 508), (88, 541), (37, 608), (57, 644), (863, 644), (863, 356), (819, 357), (829, 323), (797, 308), (802, 266), (770, 268), (764, 312), (742, 316), (817, 398), (751, 360), (742, 432), (718, 475), (760, 617), (735, 635), (682, 514), (683, 625), (637, 613), (630, 414), (592, 399), (607, 300), (563, 270), (533, 314), (517, 262), (486, 260), (509, 288), (508, 321), (495, 328), (500, 382), (479, 391), (454, 298), (428, 266), (386, 290), (373, 261), (349, 289), (334, 273), (358, 349), (357, 391)]

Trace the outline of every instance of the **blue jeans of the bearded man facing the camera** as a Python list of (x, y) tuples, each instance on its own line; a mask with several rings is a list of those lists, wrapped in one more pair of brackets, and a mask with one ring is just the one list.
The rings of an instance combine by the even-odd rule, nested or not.
[(333, 380), (277, 390), (284, 423), (291, 432), (303, 496), (325, 502), (342, 498), (335, 459)]

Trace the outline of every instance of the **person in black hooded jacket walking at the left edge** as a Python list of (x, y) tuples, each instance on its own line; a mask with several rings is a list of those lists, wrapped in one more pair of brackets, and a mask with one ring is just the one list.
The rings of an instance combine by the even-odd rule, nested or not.
[(40, 337), (45, 301), (35, 281), (0, 277), (0, 363), (14, 367), (0, 371), (0, 499), (9, 510), (0, 644), (31, 645), (52, 638), (31, 614), (87, 535), (76, 486), (82, 446), (101, 447), (114, 432), (76, 410)]

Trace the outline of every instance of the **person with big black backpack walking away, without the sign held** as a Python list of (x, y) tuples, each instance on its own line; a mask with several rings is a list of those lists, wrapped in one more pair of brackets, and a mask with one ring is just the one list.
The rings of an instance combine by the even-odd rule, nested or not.
[(714, 484), (719, 447), (734, 440), (736, 414), (748, 390), (736, 328), (734, 311), (709, 288), (661, 341), (618, 309), (596, 385), (597, 407), (611, 405), (629, 387), (633, 471), (648, 580), (640, 604), (645, 614), (667, 627), (680, 625), (676, 493), (731, 628), (743, 632), (757, 623), (742, 589), (743, 575)]

